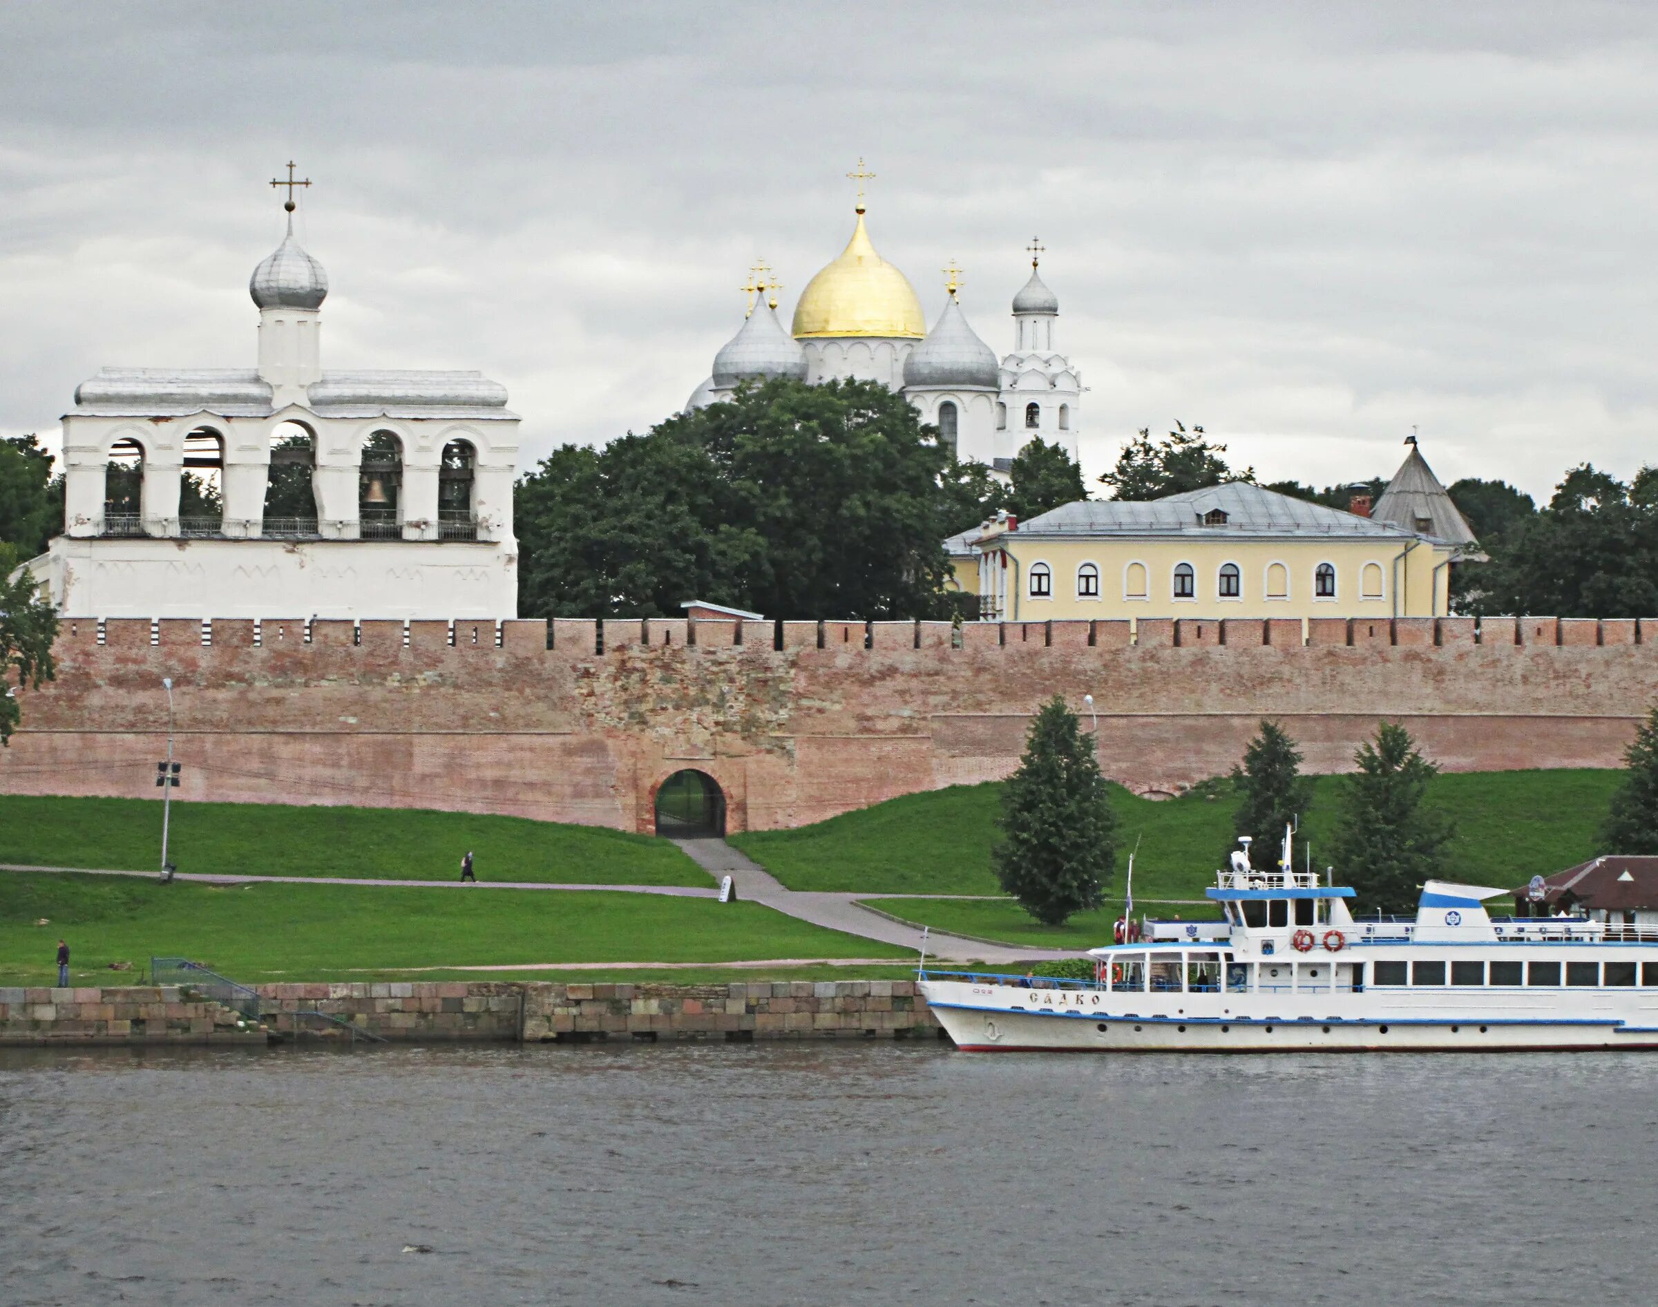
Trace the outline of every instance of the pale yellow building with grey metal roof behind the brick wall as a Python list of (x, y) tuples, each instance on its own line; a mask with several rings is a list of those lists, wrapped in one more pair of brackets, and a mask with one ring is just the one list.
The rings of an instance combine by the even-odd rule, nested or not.
[(1439, 617), (1464, 547), (1229, 481), (1147, 503), (1081, 499), (947, 541), (980, 617)]

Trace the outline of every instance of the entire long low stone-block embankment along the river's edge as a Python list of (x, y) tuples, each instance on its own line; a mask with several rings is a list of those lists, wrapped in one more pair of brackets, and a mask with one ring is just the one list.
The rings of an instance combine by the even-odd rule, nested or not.
[(914, 980), (728, 985), (391, 982), (260, 985), (260, 1023), (177, 989), (0, 989), (0, 1043), (265, 1043), (348, 1038), (325, 1012), (383, 1040), (824, 1040), (937, 1037)]

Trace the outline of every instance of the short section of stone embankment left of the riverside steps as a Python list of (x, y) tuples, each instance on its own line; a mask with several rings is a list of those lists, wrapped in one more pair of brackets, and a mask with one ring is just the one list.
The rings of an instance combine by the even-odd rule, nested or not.
[(0, 989), (0, 1043), (265, 1043), (237, 1020), (171, 985)]

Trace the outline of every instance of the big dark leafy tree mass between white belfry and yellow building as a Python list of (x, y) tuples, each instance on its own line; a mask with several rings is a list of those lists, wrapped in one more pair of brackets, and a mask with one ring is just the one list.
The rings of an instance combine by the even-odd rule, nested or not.
[(948, 468), (882, 385), (743, 386), (521, 479), (521, 607), (652, 615), (698, 597), (768, 617), (928, 617), (963, 508)]

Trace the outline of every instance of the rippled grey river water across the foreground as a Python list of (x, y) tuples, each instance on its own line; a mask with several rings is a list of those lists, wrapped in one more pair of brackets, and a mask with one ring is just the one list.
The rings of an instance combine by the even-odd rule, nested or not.
[(0, 1052), (0, 1299), (1651, 1302), (1655, 1070), (930, 1043)]

